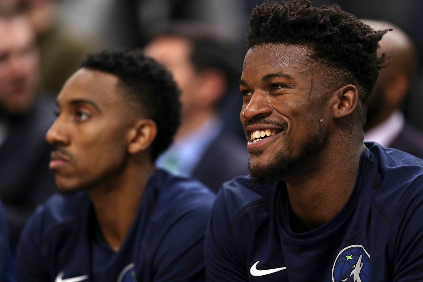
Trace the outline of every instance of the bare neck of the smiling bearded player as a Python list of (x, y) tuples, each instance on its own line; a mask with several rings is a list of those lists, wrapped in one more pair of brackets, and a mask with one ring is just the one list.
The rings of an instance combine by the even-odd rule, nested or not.
[[(345, 141), (344, 144), (342, 142)], [(297, 218), (313, 230), (333, 218), (346, 204), (354, 188), (365, 151), (362, 141), (348, 146), (352, 140), (341, 140), (342, 145), (328, 146), (313, 160), (313, 173), (286, 180), (289, 202)], [(304, 168), (307, 171), (307, 168)]]

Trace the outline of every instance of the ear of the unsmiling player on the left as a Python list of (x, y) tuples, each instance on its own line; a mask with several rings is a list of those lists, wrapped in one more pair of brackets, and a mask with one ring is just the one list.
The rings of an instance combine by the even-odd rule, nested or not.
[(135, 122), (127, 135), (129, 154), (145, 151), (153, 143), (157, 135), (157, 125), (151, 119), (140, 119)]

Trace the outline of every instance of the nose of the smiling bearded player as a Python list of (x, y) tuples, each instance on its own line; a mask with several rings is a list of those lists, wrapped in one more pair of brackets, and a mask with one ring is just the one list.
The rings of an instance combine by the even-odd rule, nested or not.
[(254, 117), (266, 117), (272, 113), (272, 106), (268, 95), (264, 91), (254, 91), (250, 101), (241, 111), (241, 119), (253, 119)]

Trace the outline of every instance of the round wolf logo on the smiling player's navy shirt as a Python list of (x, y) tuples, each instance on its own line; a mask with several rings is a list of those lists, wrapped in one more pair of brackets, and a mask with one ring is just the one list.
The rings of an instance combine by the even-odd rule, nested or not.
[(333, 282), (370, 282), (370, 254), (361, 245), (339, 252), (332, 268)]

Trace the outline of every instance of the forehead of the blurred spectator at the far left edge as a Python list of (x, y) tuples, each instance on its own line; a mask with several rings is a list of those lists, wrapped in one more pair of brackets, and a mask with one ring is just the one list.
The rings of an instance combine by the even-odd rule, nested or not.
[(24, 16), (0, 18), (0, 48), (13, 49), (31, 44), (35, 33), (29, 20)]

